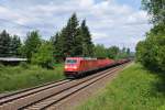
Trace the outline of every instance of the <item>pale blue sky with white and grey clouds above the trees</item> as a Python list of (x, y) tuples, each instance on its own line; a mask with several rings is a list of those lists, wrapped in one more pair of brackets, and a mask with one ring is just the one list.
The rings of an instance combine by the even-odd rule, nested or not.
[(0, 31), (23, 40), (38, 30), (48, 40), (66, 25), (73, 12), (87, 20), (95, 44), (127, 46), (134, 51), (151, 29), (141, 0), (0, 0)]

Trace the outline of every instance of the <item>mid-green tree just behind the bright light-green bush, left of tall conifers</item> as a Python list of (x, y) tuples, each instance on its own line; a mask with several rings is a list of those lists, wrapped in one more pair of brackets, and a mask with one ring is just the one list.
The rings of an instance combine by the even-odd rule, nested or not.
[(38, 46), (41, 45), (41, 36), (37, 31), (32, 31), (28, 33), (26, 40), (24, 42), (24, 54), (31, 62), (33, 53), (36, 53)]

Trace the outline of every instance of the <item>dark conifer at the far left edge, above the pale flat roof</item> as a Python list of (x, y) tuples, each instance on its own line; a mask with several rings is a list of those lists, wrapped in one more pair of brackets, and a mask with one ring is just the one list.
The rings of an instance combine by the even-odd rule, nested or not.
[(0, 57), (9, 57), (10, 56), (10, 43), (11, 37), (7, 33), (6, 30), (0, 33)]

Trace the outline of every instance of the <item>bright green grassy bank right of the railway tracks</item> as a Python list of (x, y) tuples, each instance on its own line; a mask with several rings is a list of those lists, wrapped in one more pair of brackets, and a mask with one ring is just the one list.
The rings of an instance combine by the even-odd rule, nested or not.
[(165, 110), (165, 74), (134, 64), (76, 110)]

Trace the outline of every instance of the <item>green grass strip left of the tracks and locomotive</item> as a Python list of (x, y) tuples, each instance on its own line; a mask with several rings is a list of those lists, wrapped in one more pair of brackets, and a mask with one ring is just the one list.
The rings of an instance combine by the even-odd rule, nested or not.
[(0, 66), (0, 94), (37, 86), (44, 82), (63, 79), (63, 64), (55, 69), (46, 69), (35, 65)]

